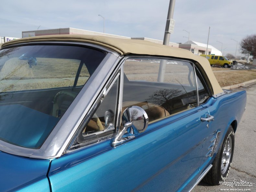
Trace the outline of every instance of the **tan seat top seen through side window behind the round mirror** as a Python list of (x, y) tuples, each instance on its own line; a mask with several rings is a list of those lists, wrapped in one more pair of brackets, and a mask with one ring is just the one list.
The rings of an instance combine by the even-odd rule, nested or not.
[(147, 113), (149, 122), (164, 118), (166, 116), (169, 116), (169, 112), (165, 110), (164, 107), (161, 107), (159, 105), (153, 104), (153, 103), (147, 103), (147, 102), (139, 102), (139, 101), (125, 101), (122, 103), (122, 111), (121, 114), (123, 114), (123, 111), (130, 106), (138, 106), (145, 110)]

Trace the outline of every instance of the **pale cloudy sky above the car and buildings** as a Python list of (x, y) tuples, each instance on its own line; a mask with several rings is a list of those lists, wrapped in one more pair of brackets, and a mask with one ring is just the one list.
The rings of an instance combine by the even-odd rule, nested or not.
[[(0, 36), (21, 37), (22, 31), (79, 28), (126, 37), (163, 40), (169, 0), (1, 0)], [(240, 41), (256, 34), (254, 0), (176, 0), (170, 42), (209, 44), (223, 55), (240, 53)], [(184, 31), (186, 30), (186, 31)], [(234, 39), (234, 40), (231, 40)], [(220, 41), (220, 42), (218, 42)]]

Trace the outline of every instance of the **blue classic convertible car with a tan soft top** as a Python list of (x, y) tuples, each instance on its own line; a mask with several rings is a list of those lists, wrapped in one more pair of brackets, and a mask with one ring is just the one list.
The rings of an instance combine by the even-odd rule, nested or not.
[(245, 91), (207, 59), (90, 35), (0, 50), (0, 191), (192, 191), (227, 177)]

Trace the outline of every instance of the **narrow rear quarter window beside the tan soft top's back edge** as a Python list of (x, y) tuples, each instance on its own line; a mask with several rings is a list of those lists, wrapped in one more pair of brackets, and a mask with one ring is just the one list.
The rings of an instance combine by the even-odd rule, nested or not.
[(197, 88), (198, 88), (198, 95), (199, 95), (199, 105), (206, 102), (206, 100), (210, 97), (207, 91), (206, 84), (204, 82), (203, 76), (196, 68), (196, 80), (197, 80)]

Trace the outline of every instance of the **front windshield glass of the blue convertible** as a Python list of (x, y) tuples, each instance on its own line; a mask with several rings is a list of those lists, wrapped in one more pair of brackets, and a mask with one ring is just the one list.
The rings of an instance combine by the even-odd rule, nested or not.
[(38, 149), (106, 53), (30, 45), (0, 51), (0, 140)]

